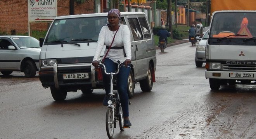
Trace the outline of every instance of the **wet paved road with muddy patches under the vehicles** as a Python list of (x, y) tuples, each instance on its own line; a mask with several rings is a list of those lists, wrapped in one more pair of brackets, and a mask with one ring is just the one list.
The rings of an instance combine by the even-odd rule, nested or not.
[[(211, 91), (190, 43), (157, 50), (156, 83), (130, 99), (130, 129), (114, 139), (255, 139), (256, 87)], [(38, 75), (0, 74), (0, 139), (107, 139), (104, 90), (67, 93), (55, 102)]]

